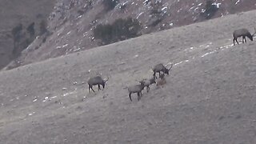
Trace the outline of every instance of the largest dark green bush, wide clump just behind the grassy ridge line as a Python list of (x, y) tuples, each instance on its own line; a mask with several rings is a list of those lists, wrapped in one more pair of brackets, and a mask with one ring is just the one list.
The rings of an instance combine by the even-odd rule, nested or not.
[(99, 24), (94, 29), (94, 37), (102, 41), (102, 45), (118, 42), (127, 38), (139, 36), (142, 26), (137, 19), (126, 18), (117, 19), (112, 25)]

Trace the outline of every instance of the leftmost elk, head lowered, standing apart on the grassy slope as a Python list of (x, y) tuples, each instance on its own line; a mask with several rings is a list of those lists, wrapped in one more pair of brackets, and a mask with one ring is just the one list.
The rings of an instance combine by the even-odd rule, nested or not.
[[(96, 76), (93, 78), (89, 78), (88, 85), (89, 85), (89, 92), (90, 89), (94, 91), (93, 86), (98, 85), (98, 91), (101, 90), (100, 85), (102, 85), (103, 89), (105, 88), (106, 82), (109, 80), (109, 77), (107, 77), (106, 80), (103, 80), (101, 76)], [(94, 91), (95, 92), (95, 91)]]

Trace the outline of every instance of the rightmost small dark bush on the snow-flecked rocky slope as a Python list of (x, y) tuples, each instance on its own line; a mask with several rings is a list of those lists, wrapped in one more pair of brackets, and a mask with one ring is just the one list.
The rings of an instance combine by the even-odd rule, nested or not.
[(214, 16), (214, 14), (218, 11), (218, 7), (216, 5), (213, 5), (213, 1), (212, 0), (207, 0), (206, 1), (206, 6), (205, 6), (205, 10), (202, 11), (201, 15), (206, 18), (206, 19), (210, 19)]

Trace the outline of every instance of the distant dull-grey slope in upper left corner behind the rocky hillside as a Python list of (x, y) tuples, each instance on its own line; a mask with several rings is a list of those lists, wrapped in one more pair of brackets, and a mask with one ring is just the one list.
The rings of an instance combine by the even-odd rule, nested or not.
[[(18, 54), (39, 34), (41, 22), (47, 22), (54, 10), (55, 0), (2, 0), (0, 2), (0, 69), (18, 57)], [(34, 24), (35, 34), (29, 36), (26, 29)], [(18, 38), (15, 27), (22, 26)], [(17, 42), (17, 45), (14, 44)]]

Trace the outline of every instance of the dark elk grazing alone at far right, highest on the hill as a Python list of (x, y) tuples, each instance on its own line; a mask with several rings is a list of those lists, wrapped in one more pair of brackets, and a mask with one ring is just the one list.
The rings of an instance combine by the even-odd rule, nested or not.
[[(255, 27), (254, 27), (254, 30), (255, 30), (254, 34), (256, 34)], [(234, 32), (233, 32), (233, 43), (234, 43), (234, 41), (236, 41), (238, 43), (238, 38), (239, 37), (242, 37), (242, 43), (246, 42), (246, 37), (249, 38), (250, 41), (253, 41), (254, 34), (250, 34), (249, 30), (244, 29), (244, 28), (234, 30)], [(239, 43), (238, 43), (238, 45), (239, 45)]]

